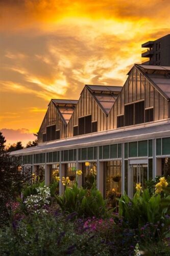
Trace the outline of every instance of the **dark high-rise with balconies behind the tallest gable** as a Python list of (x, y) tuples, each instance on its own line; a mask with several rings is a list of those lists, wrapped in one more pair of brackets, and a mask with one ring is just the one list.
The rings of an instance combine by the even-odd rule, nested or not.
[(145, 58), (144, 65), (170, 66), (170, 34), (155, 41), (144, 42), (141, 57)]

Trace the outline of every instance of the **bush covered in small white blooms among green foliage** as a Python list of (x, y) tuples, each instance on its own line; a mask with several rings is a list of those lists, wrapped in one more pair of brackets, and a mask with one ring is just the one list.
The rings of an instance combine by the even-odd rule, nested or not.
[(45, 206), (50, 204), (50, 188), (38, 187), (36, 188), (37, 195), (31, 195), (26, 198), (24, 204), (29, 212), (39, 214), (40, 211), (46, 212)]

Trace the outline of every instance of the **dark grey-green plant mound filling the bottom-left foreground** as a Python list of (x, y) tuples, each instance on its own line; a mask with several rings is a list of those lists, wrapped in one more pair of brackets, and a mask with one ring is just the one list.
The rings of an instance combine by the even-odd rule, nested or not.
[(1, 255), (110, 255), (99, 236), (75, 230), (74, 223), (51, 215), (34, 215), (0, 229)]

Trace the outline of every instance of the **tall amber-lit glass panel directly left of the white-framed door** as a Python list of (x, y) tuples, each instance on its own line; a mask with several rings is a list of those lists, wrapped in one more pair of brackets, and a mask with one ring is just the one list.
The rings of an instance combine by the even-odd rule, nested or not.
[(122, 163), (121, 161), (108, 161), (104, 164), (104, 198), (110, 206), (115, 207), (113, 196), (120, 197), (122, 193)]

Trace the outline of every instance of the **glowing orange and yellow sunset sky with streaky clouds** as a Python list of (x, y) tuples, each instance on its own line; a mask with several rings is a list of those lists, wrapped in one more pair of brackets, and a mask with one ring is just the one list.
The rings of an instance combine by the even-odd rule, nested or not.
[(0, 0), (0, 130), (38, 132), (51, 98), (84, 84), (123, 86), (141, 44), (170, 33), (169, 0)]

